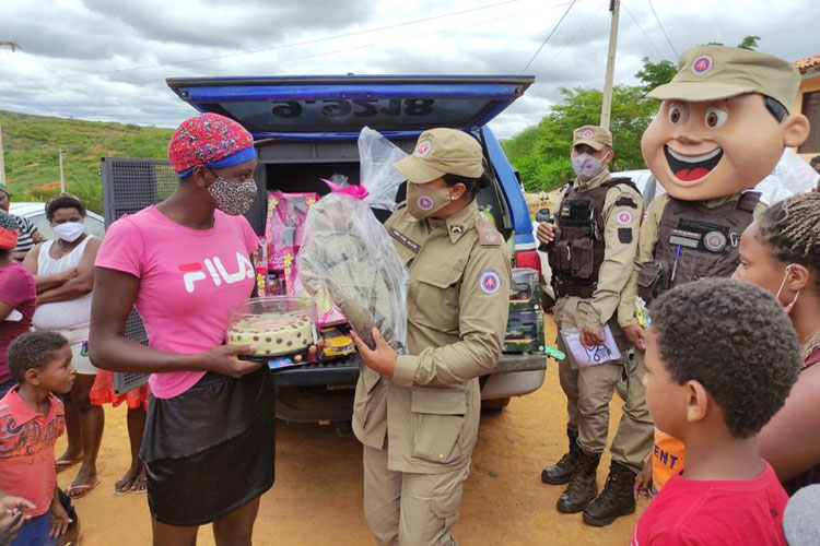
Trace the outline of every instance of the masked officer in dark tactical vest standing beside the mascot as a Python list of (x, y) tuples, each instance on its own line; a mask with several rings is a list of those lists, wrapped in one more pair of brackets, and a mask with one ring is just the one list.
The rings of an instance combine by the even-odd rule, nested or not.
[[(543, 470), (541, 479), (551, 485), (569, 484), (558, 500), (560, 511), (584, 511), (587, 523), (607, 525), (634, 511), (634, 500), (626, 507), (617, 500), (624, 495), (632, 499), (635, 475), (652, 446), (653, 425), (644, 388), (614, 319), (635, 260), (643, 200), (630, 179), (610, 177), (607, 165), (614, 152), (608, 130), (594, 126), (576, 129), (571, 155), (577, 178), (562, 191), (555, 223), (538, 227), (538, 239), (552, 268), (555, 322), (562, 331), (577, 329), (587, 346), (602, 344), (604, 330), (609, 327), (621, 357), (578, 366), (559, 335), (559, 347), (567, 353), (559, 363), (559, 376), (567, 399), (570, 449), (557, 464)], [(596, 470), (607, 444), (609, 402), (623, 376), (628, 377), (626, 402), (610, 448), (609, 477), (598, 496)]]

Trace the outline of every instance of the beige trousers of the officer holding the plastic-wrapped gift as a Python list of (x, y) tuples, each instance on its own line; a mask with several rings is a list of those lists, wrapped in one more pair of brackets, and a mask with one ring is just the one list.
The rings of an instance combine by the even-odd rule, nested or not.
[(387, 450), (364, 446), (364, 517), (379, 546), (450, 546), (469, 463), (445, 474), (387, 468)]

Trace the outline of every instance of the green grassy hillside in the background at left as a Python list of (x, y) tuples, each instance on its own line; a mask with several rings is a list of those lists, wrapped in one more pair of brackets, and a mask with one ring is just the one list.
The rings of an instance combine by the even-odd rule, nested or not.
[(60, 190), (58, 150), (62, 149), (66, 191), (103, 212), (99, 158), (167, 157), (173, 129), (79, 119), (28, 116), (0, 110), (5, 181), (14, 201), (44, 201)]

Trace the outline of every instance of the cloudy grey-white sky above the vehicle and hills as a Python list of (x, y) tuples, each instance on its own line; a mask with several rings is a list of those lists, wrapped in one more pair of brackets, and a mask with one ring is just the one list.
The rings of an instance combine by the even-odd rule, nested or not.
[[(537, 123), (562, 86), (602, 87), (608, 0), (2, 0), (0, 109), (176, 126), (194, 110), (165, 79), (194, 75), (526, 73), (536, 84), (492, 127)], [(219, 8), (214, 5), (219, 4)], [(817, 0), (622, 0), (616, 83), (644, 56), (738, 44), (820, 52)], [(656, 15), (653, 14), (653, 8)], [(665, 35), (666, 34), (666, 35)], [(676, 54), (677, 51), (677, 54)]]

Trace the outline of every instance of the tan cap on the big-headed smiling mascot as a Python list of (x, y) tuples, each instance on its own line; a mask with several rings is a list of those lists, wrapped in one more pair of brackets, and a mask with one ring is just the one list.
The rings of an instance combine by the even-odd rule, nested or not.
[(800, 73), (783, 59), (736, 47), (700, 46), (683, 51), (672, 81), (647, 96), (703, 103), (759, 93), (790, 110), (799, 86)]

